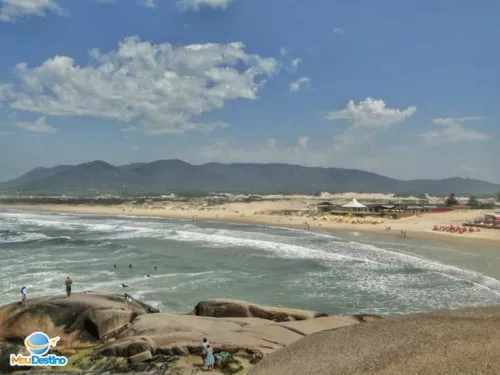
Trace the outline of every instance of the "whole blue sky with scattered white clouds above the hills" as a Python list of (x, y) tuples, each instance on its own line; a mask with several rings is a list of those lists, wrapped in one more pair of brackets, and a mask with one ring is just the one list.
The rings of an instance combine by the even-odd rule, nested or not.
[(0, 0), (0, 181), (280, 162), (500, 183), (500, 2)]

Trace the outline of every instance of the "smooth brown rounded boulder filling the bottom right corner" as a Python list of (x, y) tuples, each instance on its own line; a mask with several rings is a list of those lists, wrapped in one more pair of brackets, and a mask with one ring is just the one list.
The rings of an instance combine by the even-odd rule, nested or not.
[(321, 331), (249, 375), (497, 375), (500, 307), (439, 311)]

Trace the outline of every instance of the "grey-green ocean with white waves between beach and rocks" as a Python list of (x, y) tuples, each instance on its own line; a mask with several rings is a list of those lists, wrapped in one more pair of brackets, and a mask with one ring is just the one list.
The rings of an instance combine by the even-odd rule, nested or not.
[(28, 298), (64, 294), (71, 276), (75, 292), (127, 292), (163, 312), (233, 298), (407, 314), (499, 304), (497, 252), (352, 231), (0, 210), (0, 304), (22, 286)]

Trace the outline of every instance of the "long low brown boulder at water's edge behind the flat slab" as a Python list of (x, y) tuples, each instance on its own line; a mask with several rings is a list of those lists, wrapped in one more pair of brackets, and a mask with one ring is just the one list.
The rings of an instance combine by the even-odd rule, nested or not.
[(318, 311), (262, 306), (251, 302), (214, 299), (199, 302), (191, 312), (197, 316), (214, 318), (260, 318), (277, 322), (306, 320), (326, 316)]

